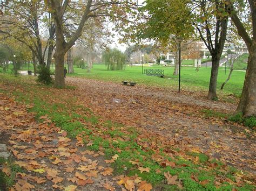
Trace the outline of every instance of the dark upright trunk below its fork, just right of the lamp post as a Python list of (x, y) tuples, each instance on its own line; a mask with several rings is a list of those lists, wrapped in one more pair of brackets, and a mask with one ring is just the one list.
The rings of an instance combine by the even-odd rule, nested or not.
[(219, 72), (219, 62), (220, 62), (220, 54), (212, 54), (212, 70), (211, 70), (211, 78), (209, 84), (209, 91), (208, 91), (208, 100), (214, 100), (217, 98), (217, 79), (218, 79), (218, 72)]

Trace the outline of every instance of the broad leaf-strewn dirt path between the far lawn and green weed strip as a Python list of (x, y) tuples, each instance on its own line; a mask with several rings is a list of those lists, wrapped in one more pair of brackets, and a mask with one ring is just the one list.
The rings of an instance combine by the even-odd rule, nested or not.
[[(203, 109), (231, 113), (235, 105), (208, 101), (202, 93), (130, 87), (121, 84), (68, 77), (67, 83), (81, 103), (106, 119), (176, 137), (189, 147), (198, 147), (214, 158), (256, 173), (255, 133), (241, 125), (204, 118)], [(250, 137), (246, 136), (250, 134)]]

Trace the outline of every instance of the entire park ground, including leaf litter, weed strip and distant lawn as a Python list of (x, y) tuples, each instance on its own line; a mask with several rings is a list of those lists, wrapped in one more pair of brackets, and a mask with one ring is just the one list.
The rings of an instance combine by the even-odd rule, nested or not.
[[(90, 74), (76, 68), (66, 88), (0, 74), (0, 143), (12, 158), (1, 178), (12, 189), (253, 190), (255, 129), (228, 121), (245, 73), (206, 100), (210, 69), (141, 67)], [(218, 87), (225, 80), (220, 68)], [(135, 87), (121, 81), (134, 81)], [(198, 85), (200, 84), (200, 85)]]

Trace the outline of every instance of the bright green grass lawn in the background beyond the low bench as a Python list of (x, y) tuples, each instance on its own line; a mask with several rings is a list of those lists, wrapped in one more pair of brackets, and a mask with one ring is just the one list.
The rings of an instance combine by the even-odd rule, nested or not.
[[(173, 76), (173, 67), (153, 66), (144, 67), (144, 69), (164, 69), (165, 77), (146, 76), (142, 74), (141, 66), (127, 66), (125, 70), (107, 71), (103, 64), (95, 64), (91, 73), (87, 73), (86, 69), (75, 68), (75, 74), (70, 76), (81, 76), (87, 79), (98, 79), (104, 81), (118, 82), (134, 81), (138, 84), (146, 86), (158, 86), (163, 88), (177, 88), (178, 76)], [(221, 84), (226, 80), (229, 70), (219, 68), (217, 89), (219, 90)], [(196, 72), (194, 67), (181, 68), (181, 88), (187, 90), (207, 90), (211, 75), (211, 68), (201, 67), (199, 72)], [(224, 93), (240, 95), (244, 83), (245, 72), (233, 71), (230, 81), (224, 87)], [(219, 90), (220, 91), (220, 90)]]

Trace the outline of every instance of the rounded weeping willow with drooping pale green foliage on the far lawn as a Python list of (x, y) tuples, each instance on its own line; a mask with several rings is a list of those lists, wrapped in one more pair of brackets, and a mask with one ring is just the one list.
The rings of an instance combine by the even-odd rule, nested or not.
[(125, 69), (126, 55), (116, 48), (105, 51), (102, 58), (107, 70)]

